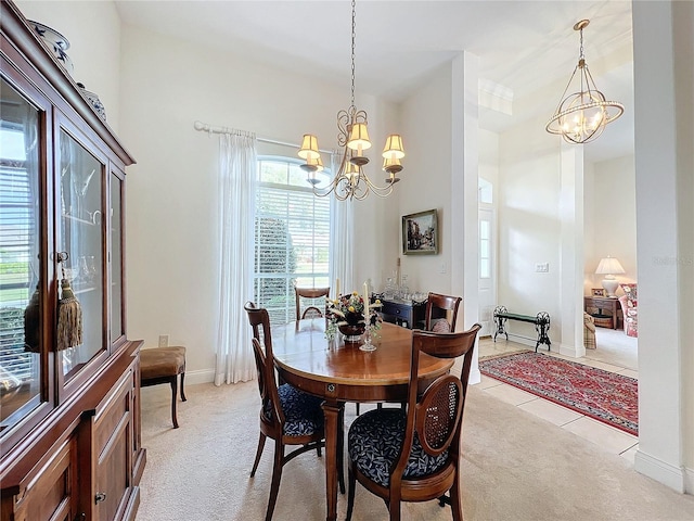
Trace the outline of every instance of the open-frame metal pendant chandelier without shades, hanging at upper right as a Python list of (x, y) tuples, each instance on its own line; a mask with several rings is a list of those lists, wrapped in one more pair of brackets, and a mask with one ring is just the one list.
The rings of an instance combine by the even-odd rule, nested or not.
[[(564, 93), (552, 118), (547, 124), (547, 131), (561, 135), (569, 143), (589, 143), (597, 139), (608, 123), (617, 119), (625, 112), (625, 106), (616, 101), (606, 101), (595, 87), (595, 81), (588, 69), (583, 56), (583, 28), (588, 27), (589, 20), (581, 20), (574, 25), (574, 30), (580, 31), (580, 53), (578, 65), (564, 89)], [(571, 90), (571, 82), (578, 73), (580, 84), (578, 91)], [(612, 111), (612, 112), (611, 112)]]

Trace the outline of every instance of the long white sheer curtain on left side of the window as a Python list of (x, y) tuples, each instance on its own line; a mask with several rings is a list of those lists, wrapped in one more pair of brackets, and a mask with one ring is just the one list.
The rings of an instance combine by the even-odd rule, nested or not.
[(257, 170), (255, 135), (219, 137), (220, 284), (215, 385), (256, 377), (250, 327), (243, 308), (253, 300)]

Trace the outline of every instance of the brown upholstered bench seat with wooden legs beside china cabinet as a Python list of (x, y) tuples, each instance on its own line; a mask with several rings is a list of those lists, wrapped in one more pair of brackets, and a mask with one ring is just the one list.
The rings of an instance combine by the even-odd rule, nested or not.
[(153, 347), (140, 352), (140, 385), (171, 385), (171, 420), (174, 429), (178, 429), (176, 417), (176, 393), (178, 376), (181, 376), (181, 401), (185, 402), (183, 379), (185, 378), (185, 347)]

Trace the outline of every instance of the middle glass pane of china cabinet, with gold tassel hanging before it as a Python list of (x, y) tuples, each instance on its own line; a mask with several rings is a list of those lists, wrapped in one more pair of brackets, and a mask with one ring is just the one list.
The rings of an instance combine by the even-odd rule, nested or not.
[[(103, 173), (104, 165), (65, 130), (60, 136), (63, 279), (59, 295), (56, 348), (66, 378), (103, 350)], [(69, 284), (74, 300), (68, 298)], [(81, 325), (73, 317), (81, 310)]]

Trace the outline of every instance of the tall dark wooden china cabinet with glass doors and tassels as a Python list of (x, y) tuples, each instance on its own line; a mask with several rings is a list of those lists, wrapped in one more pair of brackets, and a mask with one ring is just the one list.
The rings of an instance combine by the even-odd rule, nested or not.
[[(145, 465), (142, 342), (125, 320), (134, 161), (18, 9), (0, 8), (2, 521), (133, 520)], [(59, 322), (79, 341), (59, 342)]]

